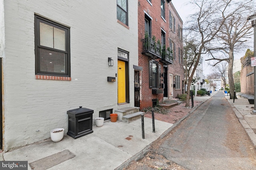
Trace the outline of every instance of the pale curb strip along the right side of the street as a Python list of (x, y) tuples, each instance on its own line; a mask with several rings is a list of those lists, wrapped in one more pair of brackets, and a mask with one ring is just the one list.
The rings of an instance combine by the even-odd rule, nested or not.
[(246, 133), (248, 134), (250, 140), (252, 141), (252, 144), (254, 145), (254, 149), (256, 149), (256, 134), (254, 133), (252, 128), (249, 126), (249, 124), (246, 122), (246, 120), (244, 120), (244, 117), (242, 116), (240, 111), (238, 111), (238, 109), (236, 109), (234, 104), (232, 104), (232, 102), (230, 100), (228, 100), (228, 102), (232, 106), (232, 109), (235, 112), (236, 117), (238, 118), (239, 122), (244, 127), (244, 130), (246, 131)]

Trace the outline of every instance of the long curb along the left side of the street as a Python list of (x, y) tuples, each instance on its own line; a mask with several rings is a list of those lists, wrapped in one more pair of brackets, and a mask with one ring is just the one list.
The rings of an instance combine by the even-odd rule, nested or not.
[[(210, 98), (212, 98), (212, 97), (210, 97)], [(199, 103), (198, 105), (196, 105), (191, 111), (188, 112), (187, 115), (183, 116), (176, 123), (174, 123), (172, 125), (172, 127), (167, 129), (166, 131), (164, 131), (164, 133), (162, 133), (162, 135), (160, 135), (160, 137), (158, 137), (158, 139), (163, 139), (170, 131), (172, 131), (172, 129), (174, 129), (174, 127), (178, 126), (184, 119), (186, 119), (191, 113), (193, 113), (199, 106), (201, 106), (207, 100), (204, 100), (201, 103)], [(156, 139), (156, 140), (158, 140), (158, 139)], [(154, 141), (152, 143), (150, 143), (148, 146), (146, 146), (144, 149), (142, 149), (140, 152), (138, 152), (137, 154), (135, 154), (134, 156), (132, 156), (131, 158), (126, 160), (124, 163), (122, 163), (120, 166), (118, 166), (114, 170), (122, 170), (122, 169), (126, 168), (127, 166), (129, 166), (129, 164), (132, 161), (137, 161), (137, 160), (142, 159), (148, 153), (148, 151), (150, 150), (150, 147), (152, 146), (153, 143), (154, 143)]]

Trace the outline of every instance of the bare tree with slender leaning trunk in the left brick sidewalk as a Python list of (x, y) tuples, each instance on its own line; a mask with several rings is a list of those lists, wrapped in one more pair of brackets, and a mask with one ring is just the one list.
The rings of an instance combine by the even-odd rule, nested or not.
[(188, 78), (186, 107), (189, 106), (190, 86), (200, 58), (210, 52), (210, 42), (222, 29), (226, 19), (231, 16), (224, 15), (229, 6), (224, 0), (192, 0), (190, 4), (194, 5), (198, 12), (190, 15), (189, 26), (184, 28), (186, 43), (192, 46), (195, 44), (191, 62), (193, 69)]

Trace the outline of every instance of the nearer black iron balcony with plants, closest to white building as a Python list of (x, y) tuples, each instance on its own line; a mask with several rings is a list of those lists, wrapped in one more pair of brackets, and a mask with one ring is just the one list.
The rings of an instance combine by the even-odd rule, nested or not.
[(156, 43), (151, 38), (142, 39), (143, 51), (142, 54), (151, 57), (152, 59), (160, 59), (160, 44)]

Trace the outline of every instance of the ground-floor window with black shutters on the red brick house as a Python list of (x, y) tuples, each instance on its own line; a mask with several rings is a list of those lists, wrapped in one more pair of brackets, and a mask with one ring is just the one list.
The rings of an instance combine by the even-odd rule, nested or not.
[[(153, 70), (152, 70), (153, 63), (156, 64), (157, 66), (156, 79), (158, 79), (158, 81), (156, 80), (156, 84), (154, 85), (153, 85)], [(154, 60), (149, 61), (149, 88), (161, 88), (161, 65)]]

